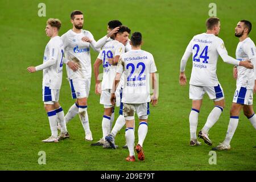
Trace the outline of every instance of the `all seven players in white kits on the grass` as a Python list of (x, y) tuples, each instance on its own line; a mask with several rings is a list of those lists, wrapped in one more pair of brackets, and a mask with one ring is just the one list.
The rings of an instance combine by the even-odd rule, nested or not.
[[(43, 102), (48, 114), (51, 127), (51, 137), (43, 142), (58, 142), (69, 138), (66, 124), (75, 115), (79, 114), (85, 131), (85, 140), (92, 141), (92, 131), (89, 126), (87, 101), (92, 76), (90, 48), (99, 52), (93, 64), (96, 80), (95, 93), (100, 94), (100, 104), (104, 105), (102, 117), (102, 138), (92, 146), (103, 148), (117, 148), (115, 135), (126, 125), (125, 138), (129, 149), (127, 161), (135, 161), (135, 113), (139, 118), (138, 143), (135, 146), (138, 159), (144, 160), (143, 142), (148, 130), (149, 103), (158, 102), (158, 82), (156, 81), (156, 66), (151, 53), (143, 51), (142, 34), (123, 26), (119, 20), (108, 23), (108, 34), (98, 40), (83, 30), (84, 16), (81, 11), (71, 13), (73, 27), (61, 37), (59, 19), (47, 20), (46, 35), (51, 38), (44, 51), (43, 64), (37, 67), (28, 67), (30, 73), (43, 70)], [(212, 17), (206, 22), (207, 32), (196, 35), (181, 59), (180, 85), (187, 83), (185, 65), (192, 54), (192, 73), (189, 86), (189, 98), (192, 100), (192, 109), (189, 114), (191, 140), (190, 146), (199, 146), (197, 136), (212, 146), (208, 131), (220, 117), (225, 101), (224, 92), (216, 75), (217, 59), (221, 58), (234, 66), (234, 77), (237, 78), (237, 89), (234, 93), (230, 121), (224, 142), (213, 150), (229, 150), (230, 141), (236, 131), (240, 111), (250, 120), (256, 129), (256, 115), (253, 110), (253, 94), (256, 91), (256, 55), (255, 44), (249, 38), (251, 23), (247, 20), (238, 22), (235, 35), (240, 39), (236, 51), (236, 59), (228, 56), (222, 39), (218, 38), (220, 19)], [(66, 115), (59, 104), (59, 93), (63, 75), (63, 64), (67, 64), (67, 75), (71, 87), (72, 98), (76, 99)], [(102, 64), (103, 78), (101, 81), (99, 68)], [(150, 96), (150, 90), (152, 96)], [(198, 115), (204, 94), (214, 102), (207, 122), (196, 136)], [(119, 117), (114, 127), (114, 106), (119, 106)], [(60, 134), (58, 135), (58, 129)]]

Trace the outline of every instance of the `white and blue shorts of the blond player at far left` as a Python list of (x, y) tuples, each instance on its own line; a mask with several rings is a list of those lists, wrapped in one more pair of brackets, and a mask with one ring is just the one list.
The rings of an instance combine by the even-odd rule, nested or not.
[(43, 102), (44, 104), (54, 104), (58, 102), (60, 97), (59, 89), (50, 89), (49, 86), (43, 86)]

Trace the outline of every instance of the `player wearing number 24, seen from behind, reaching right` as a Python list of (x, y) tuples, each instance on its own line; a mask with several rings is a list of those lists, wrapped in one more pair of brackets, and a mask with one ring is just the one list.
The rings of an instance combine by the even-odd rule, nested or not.
[(183, 86), (187, 83), (185, 65), (192, 54), (193, 67), (189, 81), (189, 98), (192, 100), (192, 109), (189, 114), (190, 146), (201, 144), (197, 141), (196, 128), (205, 92), (213, 100), (214, 108), (210, 112), (203, 129), (199, 131), (198, 137), (210, 146), (212, 141), (208, 137), (208, 131), (217, 122), (224, 109), (224, 92), (216, 75), (218, 56), (220, 55), (225, 63), (253, 68), (250, 61), (238, 61), (228, 55), (223, 40), (217, 37), (220, 32), (220, 19), (217, 17), (208, 18), (206, 26), (207, 32), (195, 35), (192, 38), (180, 62), (179, 81), (180, 85)]

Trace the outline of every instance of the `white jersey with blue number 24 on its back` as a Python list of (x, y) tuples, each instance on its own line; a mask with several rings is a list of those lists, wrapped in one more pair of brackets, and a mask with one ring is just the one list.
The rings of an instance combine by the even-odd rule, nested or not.
[(186, 51), (192, 55), (192, 72), (189, 84), (197, 86), (217, 86), (216, 74), (218, 56), (228, 54), (221, 38), (213, 34), (195, 35)]

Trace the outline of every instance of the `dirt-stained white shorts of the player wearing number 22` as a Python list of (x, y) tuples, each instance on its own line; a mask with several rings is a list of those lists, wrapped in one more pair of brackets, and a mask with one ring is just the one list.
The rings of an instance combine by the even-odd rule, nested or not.
[(137, 113), (139, 119), (147, 119), (148, 114), (150, 114), (149, 102), (143, 104), (122, 104), (122, 115), (125, 117), (126, 120), (133, 120), (135, 112)]

